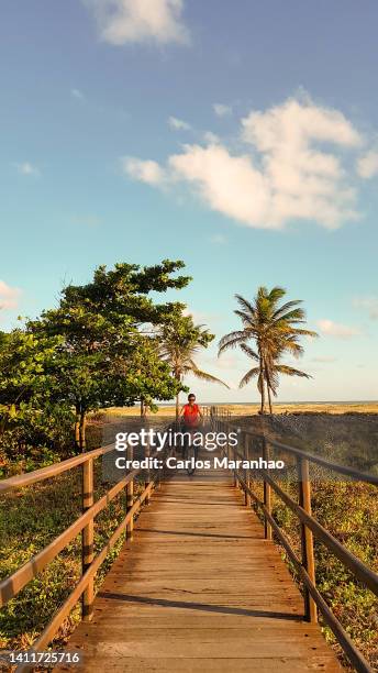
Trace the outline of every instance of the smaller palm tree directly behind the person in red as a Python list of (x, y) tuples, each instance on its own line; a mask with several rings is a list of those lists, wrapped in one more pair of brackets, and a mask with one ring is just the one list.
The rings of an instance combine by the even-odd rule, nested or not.
[[(177, 329), (182, 326), (185, 326), (184, 330)], [(186, 375), (192, 374), (202, 380), (219, 383), (229, 388), (227, 384), (216, 376), (203, 372), (194, 362), (197, 353), (207, 347), (212, 339), (213, 335), (209, 334), (209, 331), (203, 329), (202, 324), (194, 326), (191, 317), (188, 316), (180, 318), (179, 326), (177, 323), (165, 326), (162, 330), (160, 357), (169, 363), (177, 382), (182, 383)], [(179, 416), (179, 393), (177, 393), (176, 419)]]

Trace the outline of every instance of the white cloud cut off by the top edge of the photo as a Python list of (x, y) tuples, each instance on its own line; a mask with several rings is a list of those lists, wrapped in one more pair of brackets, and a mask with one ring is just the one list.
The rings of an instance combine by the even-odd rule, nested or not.
[(101, 40), (114, 45), (170, 42), (186, 44), (182, 0), (84, 0), (92, 10)]

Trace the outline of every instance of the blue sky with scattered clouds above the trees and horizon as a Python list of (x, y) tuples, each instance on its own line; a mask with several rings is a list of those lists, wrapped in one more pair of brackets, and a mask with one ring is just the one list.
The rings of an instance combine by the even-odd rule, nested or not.
[[(313, 378), (282, 379), (281, 399), (376, 399), (377, 3), (1, 10), (1, 328), (99, 264), (182, 258), (176, 297), (216, 339), (235, 293), (303, 299)], [(215, 352), (200, 364), (232, 390), (199, 397), (256, 400), (242, 354)]]

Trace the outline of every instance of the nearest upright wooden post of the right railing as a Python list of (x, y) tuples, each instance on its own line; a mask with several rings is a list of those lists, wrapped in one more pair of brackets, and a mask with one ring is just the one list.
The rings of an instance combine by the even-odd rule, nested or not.
[[(309, 461), (302, 456), (297, 459), (298, 465), (298, 492), (299, 504), (304, 511), (311, 517), (311, 482), (309, 475)], [(301, 522), (301, 544), (302, 544), (302, 565), (307, 571), (311, 582), (315, 584), (315, 560), (313, 553), (313, 536), (312, 531)], [(307, 586), (304, 591), (304, 615), (308, 621), (315, 624), (318, 621), (316, 604), (310, 595)]]

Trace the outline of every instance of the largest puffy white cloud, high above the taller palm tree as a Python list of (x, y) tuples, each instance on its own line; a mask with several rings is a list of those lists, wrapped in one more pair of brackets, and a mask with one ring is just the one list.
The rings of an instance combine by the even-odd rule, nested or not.
[(168, 157), (160, 167), (166, 184), (188, 185), (212, 210), (248, 227), (282, 229), (307, 220), (336, 229), (358, 219), (343, 157), (362, 137), (341, 112), (289, 99), (252, 111), (241, 124), (244, 152), (231, 153), (208, 132), (205, 144), (184, 145)]

